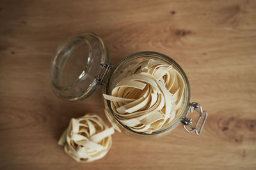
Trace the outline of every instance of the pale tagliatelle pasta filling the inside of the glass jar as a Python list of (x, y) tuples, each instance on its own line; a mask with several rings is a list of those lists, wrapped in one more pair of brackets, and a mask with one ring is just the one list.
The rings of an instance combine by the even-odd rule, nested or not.
[(116, 78), (111, 101), (116, 118), (136, 132), (150, 134), (172, 122), (184, 102), (184, 80), (170, 64), (145, 60)]

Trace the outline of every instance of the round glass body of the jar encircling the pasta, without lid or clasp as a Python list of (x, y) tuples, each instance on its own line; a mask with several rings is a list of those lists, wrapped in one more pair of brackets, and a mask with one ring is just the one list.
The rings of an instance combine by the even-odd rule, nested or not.
[(145, 139), (157, 138), (173, 130), (174, 127), (176, 127), (177, 124), (179, 124), (180, 120), (184, 117), (185, 113), (187, 113), (189, 108), (189, 99), (190, 99), (189, 81), (186, 74), (182, 70), (182, 68), (179, 66), (179, 64), (177, 64), (177, 62), (175, 62), (170, 57), (157, 52), (138, 52), (138, 53), (129, 55), (128, 57), (125, 57), (125, 59), (120, 61), (118, 65), (115, 67), (115, 69), (113, 69), (113, 71), (109, 74), (106, 88), (104, 88), (104, 94), (111, 95), (111, 91), (115, 87), (118, 81), (117, 75), (119, 74), (120, 71), (124, 70), (125, 67), (131, 64), (136, 64), (138, 62), (141, 62), (142, 60), (148, 60), (148, 59), (159, 60), (163, 63), (172, 65), (177, 71), (179, 71), (179, 73), (182, 75), (182, 78), (184, 79), (184, 82), (185, 82), (184, 102), (180, 106), (175, 119), (172, 122), (170, 122), (170, 124), (165, 125), (159, 131), (152, 132), (152, 134), (132, 131), (132, 129), (130, 129), (129, 127), (123, 125), (118, 121), (118, 119), (115, 117), (113, 110), (111, 109), (110, 102), (104, 99), (104, 112), (106, 113), (106, 116), (108, 117), (109, 122), (111, 122), (111, 124), (117, 131), (124, 132), (128, 136), (132, 136), (136, 138), (145, 138)]

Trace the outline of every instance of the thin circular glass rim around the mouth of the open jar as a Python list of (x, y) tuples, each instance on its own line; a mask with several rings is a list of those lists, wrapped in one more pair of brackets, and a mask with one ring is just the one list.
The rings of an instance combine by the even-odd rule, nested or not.
[(188, 81), (188, 77), (186, 76), (186, 73), (184, 72), (184, 70), (182, 69), (182, 67), (180, 67), (180, 65), (173, 60), (172, 58), (168, 57), (167, 55), (164, 55), (163, 53), (159, 53), (159, 52), (154, 52), (154, 51), (142, 51), (142, 52), (136, 52), (136, 53), (132, 53), (131, 55), (128, 55), (127, 57), (125, 57), (124, 59), (122, 59), (120, 62), (118, 62), (118, 64), (116, 65), (116, 67), (111, 71), (111, 73), (108, 76), (108, 81), (106, 83), (106, 93), (109, 94), (109, 83), (111, 80), (111, 76), (113, 75), (113, 73), (115, 73), (115, 71), (118, 69), (118, 66), (121, 66), (125, 61), (129, 61), (134, 59), (135, 57), (141, 56), (141, 55), (146, 55), (147, 57), (163, 57), (164, 59), (166, 59), (168, 62), (172, 63), (173, 65), (175, 65), (178, 69), (178, 71), (180, 72), (180, 74), (182, 74), (184, 80), (185, 80), (185, 87), (186, 90), (188, 92), (188, 95), (185, 99), (185, 104), (186, 104), (186, 108), (184, 108), (184, 111), (182, 114), (180, 114), (179, 117), (175, 118), (175, 121), (172, 122), (172, 124), (168, 125), (168, 127), (160, 130), (160, 131), (155, 131), (152, 132), (151, 134), (147, 134), (145, 132), (136, 132), (133, 131), (132, 129), (130, 129), (129, 127), (127, 127), (126, 125), (123, 125), (115, 116), (114, 111), (111, 108), (111, 104), (110, 101), (107, 101), (108, 103), (108, 107), (109, 110), (111, 111), (111, 114), (113, 115), (113, 117), (115, 118), (115, 120), (122, 125), (123, 127), (125, 127), (126, 129), (128, 129), (129, 131), (135, 132), (136, 134), (142, 134), (142, 135), (154, 135), (154, 134), (161, 134), (163, 132), (169, 131), (171, 129), (173, 129), (173, 127), (175, 127), (177, 124), (179, 124), (180, 120), (182, 120), (182, 118), (184, 117), (184, 115), (188, 112), (189, 109), (189, 100), (190, 100), (190, 87), (189, 87), (189, 81)]

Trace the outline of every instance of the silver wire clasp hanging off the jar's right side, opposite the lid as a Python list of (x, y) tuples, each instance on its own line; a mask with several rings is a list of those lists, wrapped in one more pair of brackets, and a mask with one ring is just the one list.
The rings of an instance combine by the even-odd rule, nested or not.
[[(192, 118), (187, 117), (188, 113), (190, 113), (190, 112), (192, 113), (193, 110), (195, 110), (199, 114), (199, 117), (196, 120), (196, 124), (195, 124), (194, 127), (191, 125), (191, 124), (193, 124)], [(186, 131), (188, 131), (188, 132), (194, 132), (195, 131), (196, 134), (199, 135), (202, 132), (203, 128), (204, 128), (204, 124), (205, 124), (205, 120), (207, 118), (207, 115), (208, 115), (208, 113), (206, 111), (203, 111), (203, 108), (200, 104), (193, 102), (193, 103), (189, 104), (189, 110), (186, 113), (185, 117), (182, 118), (181, 122), (182, 122), (183, 127)], [(200, 122), (200, 120), (203, 116), (204, 116), (204, 120), (201, 124), (201, 127), (200, 127), (199, 131), (198, 131), (197, 127), (198, 127), (198, 124), (199, 124), (199, 122)]]

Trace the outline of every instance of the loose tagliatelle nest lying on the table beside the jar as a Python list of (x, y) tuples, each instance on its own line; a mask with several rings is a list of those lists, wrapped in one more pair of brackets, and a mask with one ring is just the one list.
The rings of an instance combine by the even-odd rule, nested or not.
[(108, 153), (113, 133), (113, 127), (109, 128), (102, 118), (90, 113), (72, 118), (58, 144), (63, 146), (67, 142), (65, 152), (77, 162), (92, 162)]

